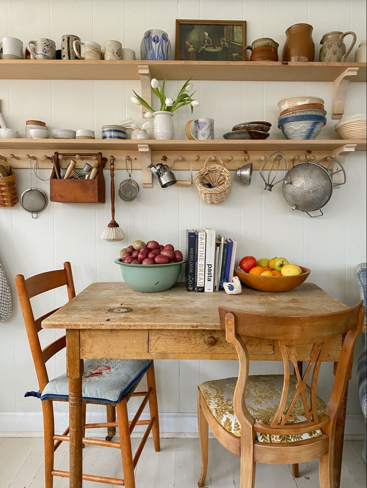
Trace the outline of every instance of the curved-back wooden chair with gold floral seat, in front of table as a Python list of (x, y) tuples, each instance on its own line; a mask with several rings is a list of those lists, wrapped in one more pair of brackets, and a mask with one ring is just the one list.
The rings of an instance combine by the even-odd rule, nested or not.
[[(320, 458), (320, 488), (333, 487), (337, 414), (365, 315), (362, 300), (339, 312), (280, 316), (219, 307), (221, 328), (239, 358), (238, 378), (206, 381), (198, 390), (198, 423), (204, 486), (208, 465), (208, 425), (216, 438), (241, 456), (240, 487), (254, 488), (256, 462), (295, 464)], [(325, 347), (346, 334), (327, 404), (316, 395)], [(284, 375), (249, 376), (249, 355), (241, 335), (278, 341)], [(299, 353), (309, 352), (303, 375)], [(304, 357), (303, 357), (304, 358)], [(291, 374), (290, 364), (295, 374)], [(311, 374), (311, 386), (306, 380)]]

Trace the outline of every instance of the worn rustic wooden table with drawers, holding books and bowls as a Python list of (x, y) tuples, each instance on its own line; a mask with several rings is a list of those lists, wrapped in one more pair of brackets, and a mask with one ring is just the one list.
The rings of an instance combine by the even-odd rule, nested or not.
[[(42, 321), (44, 328), (66, 329), (70, 488), (82, 486), (82, 359), (237, 359), (220, 329), (219, 305), (260, 312), (264, 316), (312, 315), (347, 308), (313, 283), (303, 283), (283, 293), (245, 287), (240, 295), (188, 293), (183, 283), (160, 293), (140, 293), (121, 282), (91, 284)], [(250, 359), (282, 360), (279, 346), (273, 340), (244, 339)], [(340, 335), (331, 339), (324, 360), (337, 361), (341, 345)], [(300, 359), (308, 360), (308, 353), (305, 348), (305, 356)], [(340, 485), (346, 397), (347, 391), (337, 424), (334, 488)]]

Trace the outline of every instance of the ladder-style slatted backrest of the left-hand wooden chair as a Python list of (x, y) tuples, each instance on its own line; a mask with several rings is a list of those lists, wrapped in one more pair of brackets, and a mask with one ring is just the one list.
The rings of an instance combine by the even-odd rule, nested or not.
[(54, 342), (46, 346), (42, 351), (38, 337), (38, 332), (41, 330), (41, 321), (55, 310), (45, 313), (35, 320), (30, 298), (45, 291), (66, 285), (68, 299), (70, 301), (75, 296), (71, 264), (69, 262), (64, 262), (64, 269), (39, 273), (29, 277), (28, 279), (25, 279), (22, 274), (17, 274), (14, 280), (37, 375), (38, 386), (40, 392), (42, 392), (43, 388), (48, 383), (48, 374), (45, 362), (58, 350), (65, 346), (65, 339), (62, 337), (56, 339)]

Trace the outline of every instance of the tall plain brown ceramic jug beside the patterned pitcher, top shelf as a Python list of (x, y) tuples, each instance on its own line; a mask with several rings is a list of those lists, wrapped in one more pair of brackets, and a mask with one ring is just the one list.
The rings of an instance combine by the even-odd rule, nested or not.
[(283, 47), (283, 61), (313, 61), (315, 44), (312, 39), (313, 26), (296, 23), (286, 30), (287, 39)]

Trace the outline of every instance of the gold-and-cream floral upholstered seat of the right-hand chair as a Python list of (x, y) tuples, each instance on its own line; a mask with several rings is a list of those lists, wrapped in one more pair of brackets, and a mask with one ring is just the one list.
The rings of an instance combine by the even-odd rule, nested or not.
[[(283, 374), (263, 374), (249, 376), (246, 385), (246, 406), (251, 415), (259, 423), (270, 424), (278, 409), (279, 401), (283, 390)], [(209, 410), (216, 420), (229, 432), (240, 437), (241, 427), (234, 412), (233, 394), (236, 387), (237, 378), (217, 379), (206, 381), (199, 388), (204, 397)], [(286, 409), (290, 405), (293, 396), (296, 393), (297, 378), (290, 376), (290, 386)], [(306, 396), (310, 403), (310, 388), (307, 387)], [(326, 409), (324, 401), (317, 397), (317, 411), (319, 418)], [(303, 401), (299, 396), (292, 410), (293, 422), (302, 422), (307, 420), (303, 416), (305, 411)], [(293, 423), (290, 422), (290, 423)], [(259, 442), (267, 443), (288, 443), (299, 440), (318, 437), (322, 432), (320, 429), (295, 435), (274, 435), (256, 432)]]

